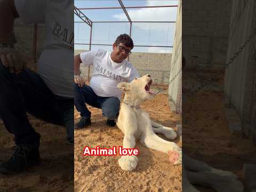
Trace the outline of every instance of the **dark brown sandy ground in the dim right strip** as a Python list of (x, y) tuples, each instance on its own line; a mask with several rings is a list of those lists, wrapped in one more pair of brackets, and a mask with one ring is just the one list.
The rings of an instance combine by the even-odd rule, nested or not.
[[(223, 76), (215, 79), (214, 84), (215, 88), (216, 85), (221, 87)], [(182, 103), (183, 152), (217, 169), (231, 171), (243, 181), (243, 164), (256, 162), (256, 147), (252, 140), (241, 135), (231, 136), (222, 102), (223, 92), (204, 90), (185, 98)]]

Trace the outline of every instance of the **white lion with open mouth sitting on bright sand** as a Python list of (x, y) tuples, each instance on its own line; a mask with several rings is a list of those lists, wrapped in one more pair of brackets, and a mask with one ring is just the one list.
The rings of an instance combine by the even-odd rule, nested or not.
[[(173, 140), (177, 137), (177, 133), (172, 128), (151, 121), (146, 111), (140, 108), (143, 101), (152, 99), (155, 95), (150, 91), (152, 82), (150, 75), (145, 75), (135, 78), (131, 83), (121, 82), (117, 85), (125, 92), (116, 123), (124, 133), (123, 148), (134, 148), (135, 139), (139, 139), (148, 148), (164, 153), (175, 151), (178, 155), (173, 163), (180, 164), (181, 148), (176, 143), (166, 141), (155, 134), (162, 133), (166, 138)], [(122, 156), (118, 160), (119, 166), (126, 171), (134, 170), (137, 162), (136, 156)]]

